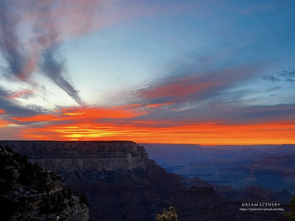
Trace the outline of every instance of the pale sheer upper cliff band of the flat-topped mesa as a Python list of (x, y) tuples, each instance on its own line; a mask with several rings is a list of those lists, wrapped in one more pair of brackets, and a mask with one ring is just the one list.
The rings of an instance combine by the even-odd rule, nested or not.
[(132, 141), (0, 141), (0, 145), (57, 173), (126, 170), (148, 164), (145, 149)]

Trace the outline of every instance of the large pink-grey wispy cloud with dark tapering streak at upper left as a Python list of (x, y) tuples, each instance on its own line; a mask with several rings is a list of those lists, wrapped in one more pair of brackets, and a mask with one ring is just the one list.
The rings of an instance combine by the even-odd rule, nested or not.
[[(8, 66), (3, 75), (36, 84), (35, 71), (41, 71), (70, 95), (79, 105), (86, 105), (79, 90), (66, 77), (66, 60), (59, 52), (64, 39), (93, 30), (93, 17), (112, 1), (15, 1), (0, 2), (0, 51)], [(108, 20), (95, 22), (95, 28)], [(99, 19), (98, 19), (99, 20)]]

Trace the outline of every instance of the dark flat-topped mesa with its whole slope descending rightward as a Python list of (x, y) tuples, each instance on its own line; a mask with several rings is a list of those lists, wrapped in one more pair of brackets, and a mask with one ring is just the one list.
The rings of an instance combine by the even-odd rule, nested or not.
[[(132, 141), (0, 141), (56, 172), (89, 198), (89, 220), (155, 220), (170, 206), (178, 220), (286, 220), (282, 211), (243, 211), (247, 199), (224, 199), (214, 187), (168, 173)], [(260, 200), (259, 202), (268, 202)], [(280, 202), (288, 209), (288, 203)], [(253, 207), (254, 208), (254, 207)]]

